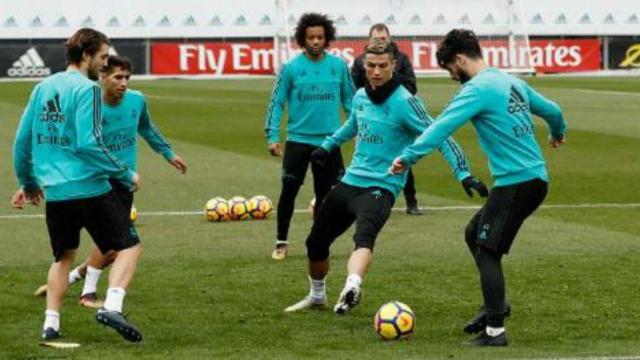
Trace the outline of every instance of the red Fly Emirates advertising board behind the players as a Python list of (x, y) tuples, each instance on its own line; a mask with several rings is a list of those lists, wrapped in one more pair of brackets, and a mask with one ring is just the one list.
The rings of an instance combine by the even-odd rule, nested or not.
[[(398, 40), (400, 51), (409, 56), (416, 71), (439, 70), (435, 57), (437, 40)], [(349, 65), (360, 54), (366, 40), (338, 40), (331, 53)], [(524, 47), (509, 53), (506, 40), (482, 41), (485, 59), (491, 66), (526, 67)], [(601, 69), (602, 51), (598, 39), (531, 40), (531, 56), (537, 72), (575, 72)], [(512, 64), (513, 65), (513, 64)], [(151, 73), (157, 75), (214, 74), (264, 75), (273, 73), (273, 43), (264, 42), (191, 42), (154, 43), (151, 46)]]

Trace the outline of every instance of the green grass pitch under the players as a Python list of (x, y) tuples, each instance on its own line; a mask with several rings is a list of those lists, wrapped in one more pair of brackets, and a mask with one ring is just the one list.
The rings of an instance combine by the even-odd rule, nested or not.
[[(640, 203), (640, 81), (637, 78), (531, 78), (564, 109), (570, 132), (559, 150), (546, 145), (552, 182), (546, 205)], [(640, 354), (640, 207), (540, 209), (505, 258), (508, 298), (506, 349), (467, 349), (461, 325), (481, 303), (477, 274), (463, 231), (472, 210), (392, 215), (380, 234), (361, 305), (345, 317), (331, 311), (285, 314), (308, 291), (304, 239), (309, 214), (297, 213), (290, 257), (269, 257), (275, 219), (207, 223), (204, 216), (151, 216), (196, 211), (214, 196), (264, 194), (277, 200), (280, 163), (263, 139), (272, 80), (139, 81), (152, 116), (189, 163), (180, 176), (141, 146), (144, 187), (136, 195), (137, 226), (145, 251), (128, 292), (125, 312), (145, 336), (125, 343), (99, 327), (93, 312), (68, 293), (62, 332), (75, 350), (38, 346), (44, 301), (32, 292), (51, 261), (42, 218), (8, 205), (16, 188), (11, 144), (33, 83), (0, 83), (0, 358), (556, 358)], [(446, 79), (421, 79), (419, 93), (438, 114), (454, 93)], [(489, 181), (486, 158), (470, 124), (456, 135), (474, 174)], [(352, 146), (344, 148), (350, 158)], [(468, 199), (440, 155), (415, 169), (422, 206), (480, 205)], [(298, 198), (306, 208), (311, 186)], [(396, 207), (404, 206), (399, 198)], [(20, 214), (42, 214), (28, 209)], [(352, 249), (352, 230), (333, 247), (328, 277), (335, 301)], [(89, 249), (83, 235), (78, 261)], [(104, 294), (106, 276), (99, 292)], [(384, 342), (373, 330), (378, 306), (409, 304), (414, 336)]]

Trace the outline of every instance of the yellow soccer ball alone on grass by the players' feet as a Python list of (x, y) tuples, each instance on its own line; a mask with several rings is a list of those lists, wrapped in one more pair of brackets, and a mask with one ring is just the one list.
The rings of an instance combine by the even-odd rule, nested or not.
[(409, 306), (392, 301), (380, 307), (374, 325), (378, 335), (385, 340), (406, 338), (416, 327), (416, 315)]

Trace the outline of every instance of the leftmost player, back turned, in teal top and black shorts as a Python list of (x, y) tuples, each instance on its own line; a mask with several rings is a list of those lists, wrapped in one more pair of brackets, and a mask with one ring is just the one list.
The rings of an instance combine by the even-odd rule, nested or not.
[(122, 305), (136, 270), (141, 246), (129, 232), (130, 220), (109, 178), (140, 187), (140, 176), (114, 157), (102, 142), (101, 91), (97, 80), (109, 51), (107, 37), (83, 28), (66, 43), (66, 71), (36, 85), (22, 115), (13, 147), (21, 189), (12, 205), (46, 199), (46, 222), (55, 262), (48, 278), (42, 337), (60, 337), (60, 308), (68, 288), (69, 266), (86, 228), (103, 252), (118, 251), (109, 274), (104, 307), (96, 320), (126, 340), (141, 333), (123, 317)]

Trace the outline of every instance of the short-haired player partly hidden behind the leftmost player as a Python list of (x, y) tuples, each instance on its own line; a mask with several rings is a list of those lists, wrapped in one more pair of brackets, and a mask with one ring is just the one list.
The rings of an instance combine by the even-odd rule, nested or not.
[[(182, 174), (187, 171), (186, 162), (171, 149), (169, 142), (151, 121), (144, 94), (129, 89), (132, 66), (129, 60), (109, 56), (102, 70), (102, 138), (105, 146), (118, 160), (130, 169), (138, 168), (138, 134), (151, 146), (153, 151), (162, 155)], [(110, 179), (111, 187), (116, 193), (124, 210), (129, 215), (133, 205), (133, 193), (116, 179)], [(138, 233), (131, 224), (132, 236)], [(139, 238), (138, 238), (139, 240)], [(97, 285), (102, 269), (115, 259), (116, 253), (103, 255), (97, 247), (93, 247), (87, 260), (69, 273), (69, 284), (84, 279), (79, 304), (99, 308), (102, 301), (97, 296)], [(35, 295), (43, 295), (47, 286), (41, 286)]]

